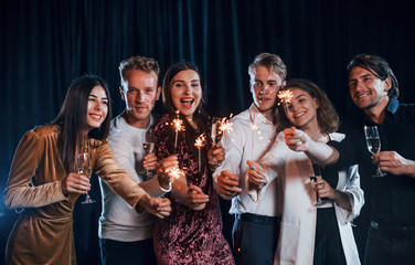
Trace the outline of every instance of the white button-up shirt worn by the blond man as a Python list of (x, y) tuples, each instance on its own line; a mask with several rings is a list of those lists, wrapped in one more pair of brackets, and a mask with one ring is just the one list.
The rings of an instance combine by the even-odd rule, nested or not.
[(251, 200), (246, 190), (247, 160), (259, 160), (273, 146), (276, 127), (258, 110), (255, 104), (231, 119), (233, 129), (225, 131), (222, 145), (226, 150), (225, 161), (213, 173), (216, 187), (217, 177), (223, 170), (240, 176), (242, 192), (232, 199), (231, 214), (253, 213), (267, 216), (280, 216), (281, 192), (279, 178), (268, 183), (267, 192), (260, 202)]

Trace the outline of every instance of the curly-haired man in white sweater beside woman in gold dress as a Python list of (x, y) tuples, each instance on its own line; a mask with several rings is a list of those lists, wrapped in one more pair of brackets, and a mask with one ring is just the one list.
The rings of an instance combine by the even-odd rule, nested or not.
[[(111, 121), (109, 147), (118, 165), (150, 195), (162, 195), (169, 189), (169, 180), (146, 176), (145, 169), (156, 169), (157, 158), (153, 152), (146, 156), (142, 147), (146, 132), (157, 121), (151, 112), (160, 96), (159, 65), (153, 59), (135, 56), (120, 63), (119, 73), (126, 108)], [(99, 180), (99, 184), (103, 211), (98, 236), (103, 264), (156, 264), (153, 218), (147, 212), (137, 213), (104, 181)]]

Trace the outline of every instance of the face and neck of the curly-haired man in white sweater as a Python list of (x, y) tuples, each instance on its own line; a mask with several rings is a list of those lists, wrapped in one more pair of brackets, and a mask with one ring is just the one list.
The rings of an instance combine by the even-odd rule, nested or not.
[(146, 128), (150, 123), (150, 114), (160, 96), (155, 71), (147, 73), (140, 70), (128, 70), (121, 80), (120, 93), (126, 102), (125, 118), (137, 128)]

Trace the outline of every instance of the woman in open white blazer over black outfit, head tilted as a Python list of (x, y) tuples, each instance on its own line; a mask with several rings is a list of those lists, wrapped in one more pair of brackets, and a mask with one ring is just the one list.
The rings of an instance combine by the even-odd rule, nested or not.
[[(358, 166), (336, 163), (345, 153), (329, 146), (344, 138), (334, 132), (339, 118), (313, 83), (294, 80), (286, 89), (292, 98), (279, 106), (284, 131), (259, 162), (247, 161), (254, 201), (264, 197), (267, 183), (281, 178), (284, 209), (275, 264), (360, 264), (350, 224), (364, 204)], [(312, 163), (320, 165), (322, 176), (315, 184)], [(316, 206), (317, 194), (324, 201), (321, 208)]]

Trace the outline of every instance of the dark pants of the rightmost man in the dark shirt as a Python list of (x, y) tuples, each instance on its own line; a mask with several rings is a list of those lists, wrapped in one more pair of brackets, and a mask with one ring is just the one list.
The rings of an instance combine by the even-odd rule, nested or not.
[(372, 222), (364, 261), (366, 265), (414, 265), (415, 227), (382, 227)]

